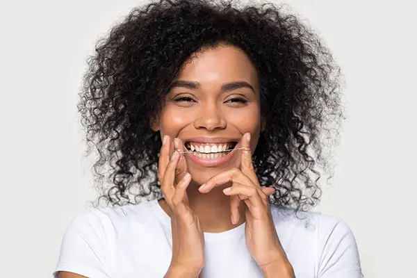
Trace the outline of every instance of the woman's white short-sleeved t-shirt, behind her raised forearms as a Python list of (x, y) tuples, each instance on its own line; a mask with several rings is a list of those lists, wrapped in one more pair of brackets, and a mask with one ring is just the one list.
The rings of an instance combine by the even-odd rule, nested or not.
[[(357, 243), (341, 220), (271, 205), (277, 234), (297, 278), (363, 277)], [(204, 233), (205, 264), (200, 277), (263, 277), (245, 244), (245, 223), (222, 233)], [(170, 217), (156, 199), (96, 208), (65, 231), (58, 271), (90, 278), (161, 278), (172, 256)], [(56, 277), (56, 276), (55, 276)]]

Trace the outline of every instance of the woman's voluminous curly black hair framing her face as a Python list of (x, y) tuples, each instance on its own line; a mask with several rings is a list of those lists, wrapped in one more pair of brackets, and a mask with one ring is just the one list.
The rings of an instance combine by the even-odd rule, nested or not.
[(134, 8), (97, 42), (78, 108), (87, 154), (98, 154), (92, 170), (99, 201), (162, 197), (156, 177), (161, 135), (149, 119), (158, 116), (186, 60), (222, 43), (245, 51), (259, 74), (266, 130), (253, 158), (261, 186), (276, 189), (270, 203), (296, 211), (318, 204), (319, 166), (329, 170), (325, 151), (332, 147), (326, 142), (338, 137), (343, 119), (342, 74), (318, 35), (284, 8), (160, 0)]

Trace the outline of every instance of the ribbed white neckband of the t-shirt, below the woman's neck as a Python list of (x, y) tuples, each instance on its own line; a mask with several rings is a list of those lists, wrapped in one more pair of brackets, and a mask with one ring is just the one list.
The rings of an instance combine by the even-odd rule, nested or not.
[[(158, 218), (163, 221), (163, 224), (167, 226), (169, 229), (171, 229), (171, 218), (163, 208), (159, 205), (158, 199), (153, 199), (152, 201), (149, 201), (149, 203), (152, 205), (152, 208), (156, 215), (158, 215)], [(218, 241), (218, 240), (227, 240), (229, 238), (234, 238), (237, 236), (241, 236), (245, 233), (245, 222), (243, 224), (240, 224), (238, 227), (234, 227), (233, 229), (230, 229), (228, 231), (222, 231), (220, 233), (206, 233), (204, 232), (204, 240), (205, 241)]]

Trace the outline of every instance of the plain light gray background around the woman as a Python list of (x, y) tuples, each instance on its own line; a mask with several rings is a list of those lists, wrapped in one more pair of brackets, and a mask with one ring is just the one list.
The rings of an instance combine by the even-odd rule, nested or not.
[[(51, 277), (65, 227), (95, 197), (81, 159), (76, 93), (97, 38), (138, 3), (0, 2), (1, 277)], [(350, 225), (366, 277), (411, 277), (416, 4), (286, 3), (320, 33), (345, 74), (347, 120), (332, 187), (317, 209)]]

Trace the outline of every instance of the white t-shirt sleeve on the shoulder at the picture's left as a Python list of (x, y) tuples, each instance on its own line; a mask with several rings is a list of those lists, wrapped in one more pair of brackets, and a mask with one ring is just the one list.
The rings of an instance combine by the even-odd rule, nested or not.
[(67, 271), (89, 278), (108, 278), (112, 261), (108, 223), (104, 215), (90, 211), (76, 216), (68, 225), (54, 277), (59, 271)]

